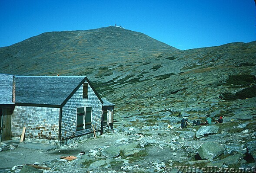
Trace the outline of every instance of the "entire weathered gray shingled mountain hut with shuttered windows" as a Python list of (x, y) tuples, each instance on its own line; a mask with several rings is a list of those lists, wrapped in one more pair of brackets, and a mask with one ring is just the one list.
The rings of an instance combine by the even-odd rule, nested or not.
[[(114, 104), (87, 77), (0, 74), (1, 141), (20, 137), (63, 141), (108, 128)], [(105, 113), (107, 112), (107, 113)]]

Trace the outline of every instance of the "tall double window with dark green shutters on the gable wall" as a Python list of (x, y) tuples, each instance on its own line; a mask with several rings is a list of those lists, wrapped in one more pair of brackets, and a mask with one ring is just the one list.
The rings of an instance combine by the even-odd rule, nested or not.
[(92, 120), (92, 107), (77, 108), (76, 114), (76, 131), (85, 128), (91, 128)]

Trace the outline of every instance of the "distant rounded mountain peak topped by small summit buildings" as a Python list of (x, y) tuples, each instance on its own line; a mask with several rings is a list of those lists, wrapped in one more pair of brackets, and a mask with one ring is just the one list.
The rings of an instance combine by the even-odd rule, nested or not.
[(64, 74), (70, 75), (73, 74), (68, 71), (70, 68), (108, 64), (117, 58), (131, 61), (166, 51), (179, 50), (140, 32), (109, 26), (87, 31), (46, 32), (0, 48), (0, 66), (1, 72), (38, 75), (63, 74), (65, 68)]

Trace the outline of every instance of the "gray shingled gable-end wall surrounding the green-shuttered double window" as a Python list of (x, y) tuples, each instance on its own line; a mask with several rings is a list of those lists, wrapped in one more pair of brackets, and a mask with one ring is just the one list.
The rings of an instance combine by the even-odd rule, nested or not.
[(73, 138), (93, 132), (93, 128), (76, 131), (76, 108), (78, 107), (92, 107), (92, 124), (95, 131), (100, 130), (102, 103), (90, 85), (88, 85), (88, 99), (83, 99), (82, 85), (62, 108), (61, 139)]

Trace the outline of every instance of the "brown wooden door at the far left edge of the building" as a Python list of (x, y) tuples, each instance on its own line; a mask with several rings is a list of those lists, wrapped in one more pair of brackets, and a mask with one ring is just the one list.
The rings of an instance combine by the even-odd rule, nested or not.
[(2, 109), (1, 141), (7, 141), (11, 139), (11, 113), (12, 113), (11, 109), (7, 109), (7, 108)]

